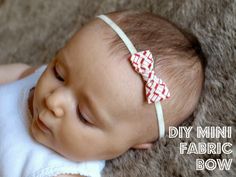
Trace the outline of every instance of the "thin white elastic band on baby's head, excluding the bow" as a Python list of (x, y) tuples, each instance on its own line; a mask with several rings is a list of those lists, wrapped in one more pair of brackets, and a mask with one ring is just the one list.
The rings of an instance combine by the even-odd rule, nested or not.
[[(126, 36), (126, 34), (122, 31), (122, 29), (113, 22), (109, 17), (106, 15), (99, 15), (98, 18), (102, 19), (106, 24), (108, 24), (121, 38), (121, 40), (125, 43), (126, 47), (130, 51), (131, 55), (137, 52), (136, 48), (132, 44), (132, 42), (129, 40), (129, 38)], [(155, 103), (156, 108), (156, 117), (159, 125), (159, 138), (164, 137), (165, 135), (165, 123), (164, 123), (164, 117), (162, 112), (162, 107), (160, 102)]]

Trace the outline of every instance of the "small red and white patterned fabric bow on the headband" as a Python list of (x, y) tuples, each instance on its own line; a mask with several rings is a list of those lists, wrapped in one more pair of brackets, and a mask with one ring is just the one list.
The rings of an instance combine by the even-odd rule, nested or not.
[(148, 103), (154, 103), (170, 97), (166, 84), (155, 75), (154, 60), (149, 50), (134, 53), (130, 61), (143, 80), (146, 81), (146, 97)]

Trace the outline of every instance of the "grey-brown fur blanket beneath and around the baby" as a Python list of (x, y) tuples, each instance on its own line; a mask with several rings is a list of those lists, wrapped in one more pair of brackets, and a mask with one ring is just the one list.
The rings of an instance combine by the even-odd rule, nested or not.
[[(207, 57), (205, 84), (194, 114), (182, 125), (232, 126), (232, 138), (168, 136), (151, 150), (130, 150), (107, 161), (105, 177), (236, 176), (235, 0), (0, 0), (0, 63), (48, 62), (66, 40), (94, 16), (135, 9), (160, 14), (193, 32)], [(230, 142), (233, 153), (181, 155), (179, 143)], [(196, 171), (195, 160), (233, 159), (230, 170)]]

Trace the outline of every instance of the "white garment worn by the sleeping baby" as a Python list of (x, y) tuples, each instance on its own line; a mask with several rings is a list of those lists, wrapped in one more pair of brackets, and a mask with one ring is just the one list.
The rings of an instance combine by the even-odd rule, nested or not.
[(30, 135), (28, 95), (46, 66), (24, 79), (0, 85), (0, 177), (100, 177), (105, 161), (73, 162)]

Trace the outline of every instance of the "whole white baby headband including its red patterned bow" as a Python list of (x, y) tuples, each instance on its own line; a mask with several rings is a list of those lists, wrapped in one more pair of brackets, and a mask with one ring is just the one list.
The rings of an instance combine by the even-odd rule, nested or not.
[(99, 15), (98, 18), (108, 24), (125, 43), (129, 52), (131, 53), (130, 61), (136, 72), (142, 75), (146, 81), (146, 97), (148, 103), (155, 103), (156, 117), (159, 125), (159, 138), (165, 135), (165, 123), (160, 101), (170, 97), (170, 92), (166, 84), (157, 78), (153, 70), (154, 60), (149, 50), (137, 52), (136, 48), (122, 31), (122, 29), (105, 15)]

